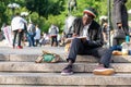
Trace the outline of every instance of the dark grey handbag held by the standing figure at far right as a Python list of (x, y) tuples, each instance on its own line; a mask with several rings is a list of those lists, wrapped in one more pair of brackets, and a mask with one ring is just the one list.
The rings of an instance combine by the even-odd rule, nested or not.
[(114, 33), (114, 38), (115, 39), (126, 39), (126, 33), (123, 28), (116, 29)]

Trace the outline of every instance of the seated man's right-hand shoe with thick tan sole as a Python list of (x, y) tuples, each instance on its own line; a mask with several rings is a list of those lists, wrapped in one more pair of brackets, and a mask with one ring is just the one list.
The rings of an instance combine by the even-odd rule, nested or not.
[(115, 74), (115, 70), (100, 66), (100, 67), (95, 69), (93, 71), (93, 74), (95, 74), (95, 75), (112, 75), (112, 74)]

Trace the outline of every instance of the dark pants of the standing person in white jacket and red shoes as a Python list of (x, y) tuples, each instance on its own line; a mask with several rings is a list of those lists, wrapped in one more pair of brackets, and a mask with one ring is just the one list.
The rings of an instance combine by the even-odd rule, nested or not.
[(14, 33), (13, 47), (15, 47), (15, 40), (16, 40), (17, 35), (19, 35), (17, 36), (19, 37), (17, 38), (17, 46), (21, 46), (21, 41), (22, 41), (24, 30), (22, 29), (22, 32), (19, 32), (19, 29), (17, 29), (17, 30), (13, 30), (13, 33)]

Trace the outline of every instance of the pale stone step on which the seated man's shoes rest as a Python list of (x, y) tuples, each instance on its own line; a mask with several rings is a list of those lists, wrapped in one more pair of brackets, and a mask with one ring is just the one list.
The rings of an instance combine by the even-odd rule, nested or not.
[(131, 74), (111, 76), (75, 73), (61, 76), (60, 73), (0, 73), (1, 85), (43, 85), (43, 86), (97, 86), (97, 85), (131, 85)]

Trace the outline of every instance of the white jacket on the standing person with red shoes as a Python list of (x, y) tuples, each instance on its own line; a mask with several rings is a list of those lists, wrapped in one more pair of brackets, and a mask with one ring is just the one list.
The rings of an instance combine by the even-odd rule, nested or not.
[(23, 17), (15, 16), (11, 22), (12, 30), (24, 29), (24, 23), (26, 24), (27, 22)]

